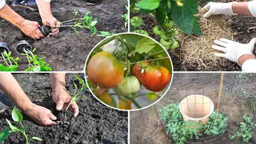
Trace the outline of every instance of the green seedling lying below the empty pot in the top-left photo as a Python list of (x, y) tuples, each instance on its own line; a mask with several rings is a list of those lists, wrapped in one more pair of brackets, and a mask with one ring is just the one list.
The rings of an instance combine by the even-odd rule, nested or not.
[(52, 68), (49, 67), (50, 64), (47, 64), (43, 58), (39, 58), (38, 55), (33, 54), (35, 52), (35, 48), (30, 50), (23, 49), (25, 53), (21, 53), (22, 55), (25, 55), (29, 62), (29, 68), (25, 69), (24, 71), (33, 71), (33, 72), (39, 72), (39, 71), (52, 71)]

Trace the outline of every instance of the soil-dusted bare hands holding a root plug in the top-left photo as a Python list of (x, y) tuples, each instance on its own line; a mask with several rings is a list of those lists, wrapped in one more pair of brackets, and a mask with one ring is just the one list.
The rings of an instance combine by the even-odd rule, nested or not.
[[(54, 18), (52, 15), (48, 16), (47, 18), (42, 18), (42, 23), (52, 28), (52, 33), (50, 33), (47, 37), (50, 37), (50, 35), (54, 35), (59, 32), (60, 22), (56, 18)], [(29, 21), (29, 20), (24, 20), (19, 26), (19, 29), (21, 29), (21, 31), (24, 34), (26, 34), (27, 36), (29, 36), (34, 40), (44, 37), (43, 33), (40, 31), (39, 28), (40, 28), (40, 25), (38, 22)]]

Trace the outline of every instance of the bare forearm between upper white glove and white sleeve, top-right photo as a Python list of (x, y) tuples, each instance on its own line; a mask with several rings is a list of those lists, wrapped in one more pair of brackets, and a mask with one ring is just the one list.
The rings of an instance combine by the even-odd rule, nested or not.
[(233, 2), (233, 4), (232, 4), (233, 13), (252, 16), (252, 13), (250, 12), (250, 10), (248, 8), (248, 3), (249, 2)]

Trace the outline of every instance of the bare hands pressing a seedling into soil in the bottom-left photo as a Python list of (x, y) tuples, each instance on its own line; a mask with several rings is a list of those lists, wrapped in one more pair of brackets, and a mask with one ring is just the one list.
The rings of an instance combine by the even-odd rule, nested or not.
[[(53, 90), (52, 97), (54, 102), (56, 103), (57, 111), (65, 109), (71, 100), (71, 96), (69, 95), (68, 91), (63, 88), (57, 88)], [(74, 112), (74, 118), (79, 113), (78, 105), (75, 102), (71, 103), (69, 110)], [(57, 124), (56, 122), (54, 122), (57, 117), (55, 117), (50, 110), (39, 105), (33, 104), (29, 107), (25, 114), (42, 126)]]

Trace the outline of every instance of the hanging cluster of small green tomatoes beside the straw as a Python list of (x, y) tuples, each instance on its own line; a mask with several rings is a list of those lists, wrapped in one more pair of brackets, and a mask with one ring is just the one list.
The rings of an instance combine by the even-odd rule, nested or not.
[(154, 34), (160, 35), (160, 43), (165, 47), (166, 50), (175, 50), (178, 47), (178, 41), (174, 39), (178, 35), (178, 30), (174, 27), (174, 22), (168, 20), (168, 17), (161, 29), (159, 26), (155, 26), (153, 29)]

